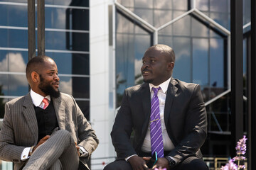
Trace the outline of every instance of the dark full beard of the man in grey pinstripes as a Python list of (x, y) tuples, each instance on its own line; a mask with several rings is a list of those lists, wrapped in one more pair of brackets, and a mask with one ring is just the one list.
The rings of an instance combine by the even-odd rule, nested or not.
[(43, 91), (43, 93), (45, 93), (46, 95), (50, 95), (54, 98), (58, 98), (60, 96), (60, 91), (55, 91), (55, 89), (53, 89), (53, 86), (50, 86), (50, 84), (46, 84), (45, 79), (43, 79), (41, 75), (40, 84), (38, 84), (38, 88), (41, 89), (41, 91)]

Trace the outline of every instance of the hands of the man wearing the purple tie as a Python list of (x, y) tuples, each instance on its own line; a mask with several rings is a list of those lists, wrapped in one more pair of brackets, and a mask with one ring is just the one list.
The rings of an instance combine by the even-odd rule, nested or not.
[[(149, 169), (148, 166), (146, 166), (146, 163), (149, 162), (150, 157), (138, 157), (133, 156), (128, 159), (129, 164), (132, 165), (133, 170), (144, 170)], [(155, 168), (166, 168), (167, 170), (170, 169), (169, 162), (166, 158), (158, 158), (156, 164), (149, 170), (155, 169)]]

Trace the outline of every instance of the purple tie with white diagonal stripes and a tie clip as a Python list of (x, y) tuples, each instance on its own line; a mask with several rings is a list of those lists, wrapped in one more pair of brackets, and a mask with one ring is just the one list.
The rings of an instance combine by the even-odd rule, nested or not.
[(161, 89), (152, 88), (154, 96), (151, 99), (151, 115), (150, 115), (150, 136), (151, 136), (151, 154), (157, 153), (158, 157), (164, 157), (164, 144), (161, 131), (161, 118), (159, 110), (159, 98), (157, 92)]

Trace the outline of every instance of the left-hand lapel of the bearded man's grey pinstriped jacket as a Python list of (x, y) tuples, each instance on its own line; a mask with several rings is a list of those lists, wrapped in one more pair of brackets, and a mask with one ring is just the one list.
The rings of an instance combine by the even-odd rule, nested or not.
[(23, 115), (26, 118), (26, 123), (28, 124), (28, 126), (32, 132), (32, 135), (35, 140), (34, 142), (36, 144), (36, 142), (38, 141), (38, 123), (36, 120), (36, 111), (33, 106), (33, 101), (32, 101), (30, 93), (28, 93), (24, 97), (23, 107), (24, 107)]

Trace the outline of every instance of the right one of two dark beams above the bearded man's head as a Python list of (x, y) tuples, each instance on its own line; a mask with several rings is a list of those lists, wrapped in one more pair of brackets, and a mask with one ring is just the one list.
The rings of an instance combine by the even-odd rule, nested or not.
[(45, 0), (37, 1), (38, 56), (46, 55)]

